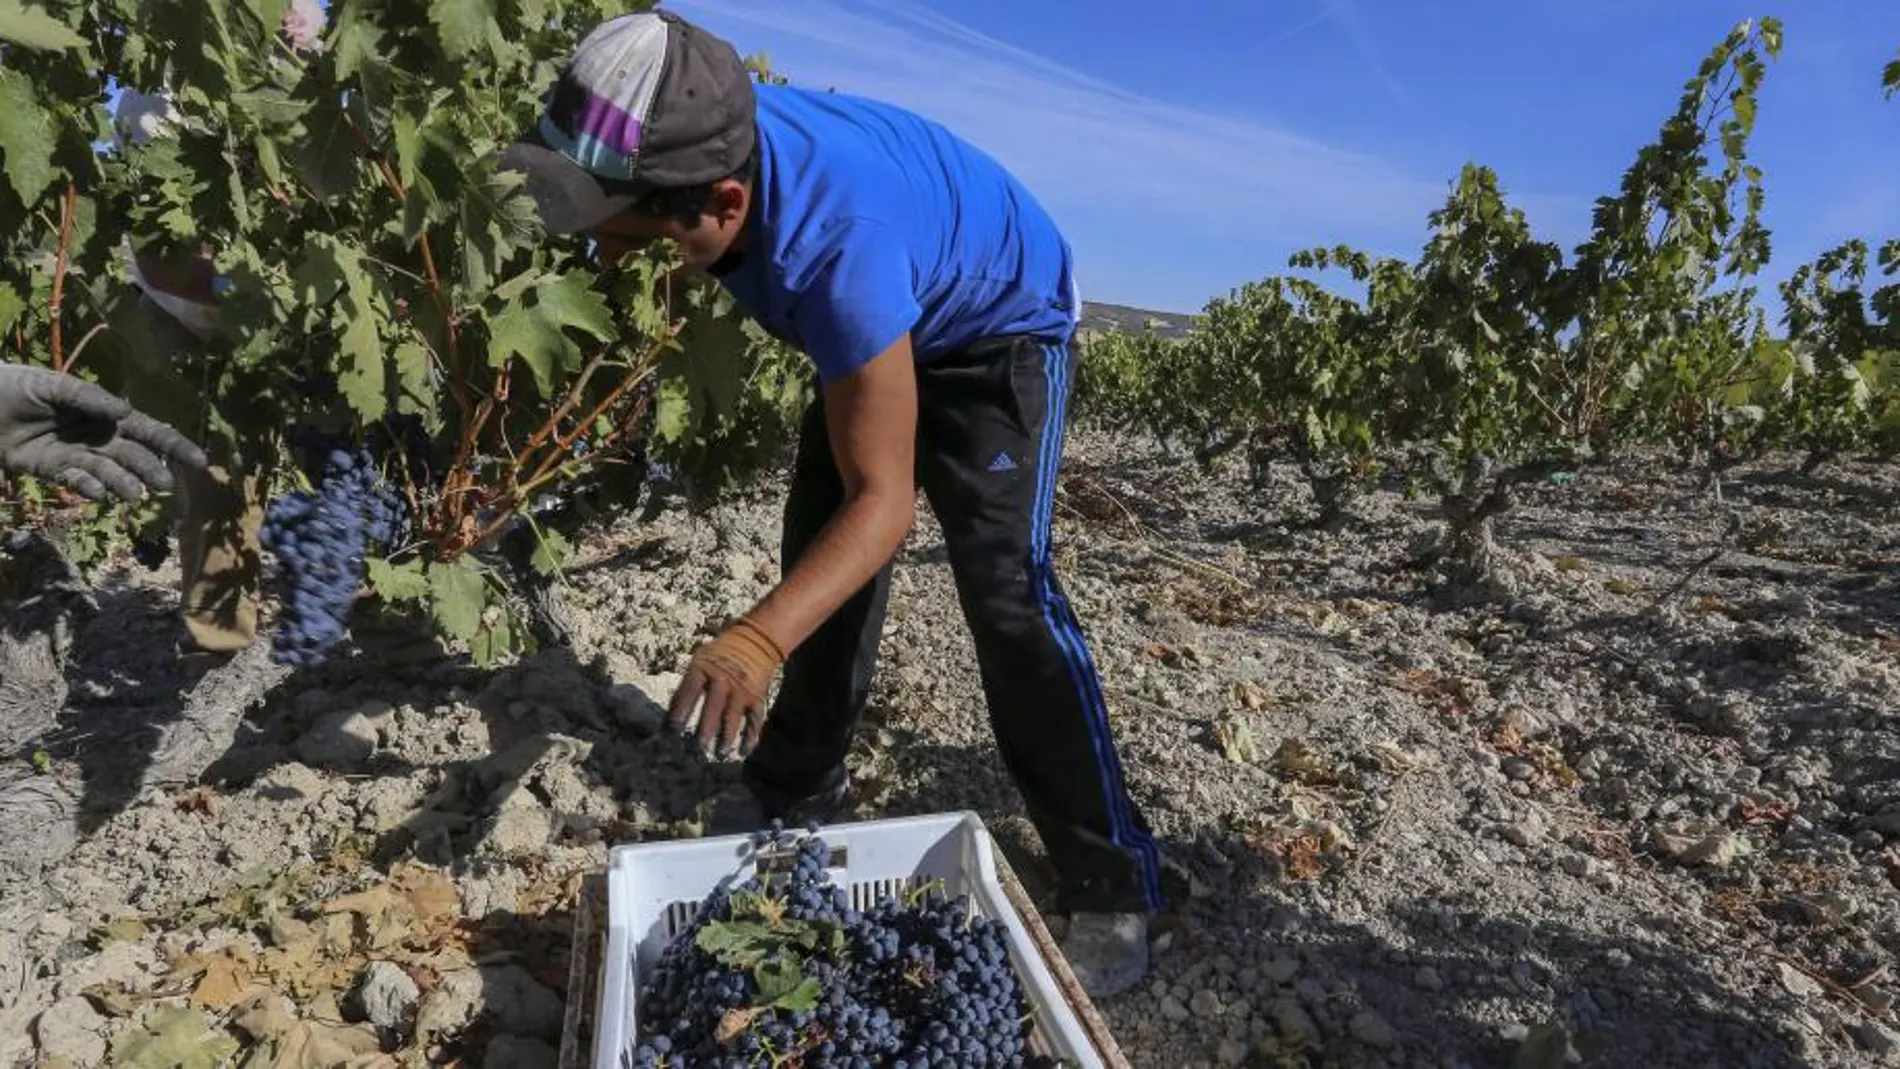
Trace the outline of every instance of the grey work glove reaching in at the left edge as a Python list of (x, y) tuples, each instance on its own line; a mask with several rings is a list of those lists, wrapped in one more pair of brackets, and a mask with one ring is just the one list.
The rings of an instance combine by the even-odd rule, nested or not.
[(205, 452), (124, 397), (48, 368), (0, 365), (0, 467), (99, 501), (169, 490), (165, 461), (205, 467)]

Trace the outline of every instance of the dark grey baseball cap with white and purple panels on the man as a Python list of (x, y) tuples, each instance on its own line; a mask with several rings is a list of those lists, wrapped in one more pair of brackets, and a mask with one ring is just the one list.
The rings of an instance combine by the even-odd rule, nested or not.
[(540, 123), (502, 154), (551, 234), (589, 230), (656, 188), (739, 171), (758, 139), (745, 61), (673, 11), (595, 27), (547, 93)]

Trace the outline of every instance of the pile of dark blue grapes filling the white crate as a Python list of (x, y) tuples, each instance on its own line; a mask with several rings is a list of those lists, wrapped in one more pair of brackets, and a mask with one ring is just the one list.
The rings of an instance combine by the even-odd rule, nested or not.
[[(825, 873), (830, 849), (809, 832), (787, 877), (718, 887), (673, 938), (640, 993), (631, 1069), (1054, 1065), (1028, 1052), (1028, 1003), (1001, 923), (937, 891), (908, 902), (884, 896), (857, 911)], [(792, 835), (773, 824), (752, 839), (787, 847)], [(813, 1008), (760, 1008), (756, 972), (699, 947), (699, 932), (730, 921), (739, 894), (768, 894), (788, 925), (842, 932), (796, 963), (817, 982)]]

